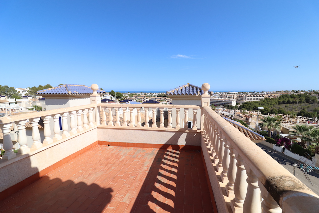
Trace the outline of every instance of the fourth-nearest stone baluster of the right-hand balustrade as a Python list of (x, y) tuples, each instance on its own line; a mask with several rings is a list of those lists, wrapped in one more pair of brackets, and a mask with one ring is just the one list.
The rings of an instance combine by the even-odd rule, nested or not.
[(228, 146), (229, 146), (230, 161), (229, 161), (229, 167), (228, 167), (228, 173), (227, 173), (228, 183), (226, 185), (226, 194), (228, 195), (228, 197), (235, 197), (234, 182), (235, 182), (236, 171), (237, 171), (237, 167), (236, 167), (237, 160), (235, 158), (234, 148), (231, 145), (231, 143), (229, 143)]

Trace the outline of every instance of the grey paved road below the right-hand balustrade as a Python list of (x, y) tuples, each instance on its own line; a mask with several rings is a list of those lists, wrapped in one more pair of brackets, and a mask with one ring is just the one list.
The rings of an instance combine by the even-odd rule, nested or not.
[[(281, 164), (283, 167), (285, 167), (288, 171), (293, 173), (293, 163), (297, 163), (297, 160), (285, 156), (284, 154), (277, 152), (271, 148), (268, 148), (264, 146), (263, 144), (257, 143), (257, 145), (262, 148), (268, 155), (270, 155), (273, 159), (275, 159), (279, 164)], [(308, 172), (308, 177), (312, 183), (312, 185), (308, 182), (308, 180), (305, 178), (303, 172), (296, 168), (295, 176), (298, 178), (302, 183), (304, 183), (306, 186), (308, 186), (314, 193), (319, 195), (319, 174), (312, 171)]]

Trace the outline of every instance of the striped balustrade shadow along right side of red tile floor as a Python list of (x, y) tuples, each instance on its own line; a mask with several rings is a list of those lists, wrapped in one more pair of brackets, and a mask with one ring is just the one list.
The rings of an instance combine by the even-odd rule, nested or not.
[[(157, 151), (130, 212), (213, 212), (200, 151), (180, 150), (180, 136)], [(196, 134), (187, 134), (186, 145), (193, 140)]]

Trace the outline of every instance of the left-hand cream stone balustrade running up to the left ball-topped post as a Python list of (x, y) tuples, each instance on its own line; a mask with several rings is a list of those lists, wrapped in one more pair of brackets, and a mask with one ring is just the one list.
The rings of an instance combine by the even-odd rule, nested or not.
[[(10, 136), (12, 124), (17, 126), (19, 133), (18, 143), (20, 148), (18, 153), (26, 154), (30, 152), (30, 147), (27, 146), (28, 141), (26, 135), (26, 123), (28, 121), (31, 122), (32, 126), (33, 144), (31, 148), (38, 149), (45, 144), (62, 140), (70, 135), (75, 135), (90, 127), (96, 126), (96, 124), (93, 123), (93, 121), (95, 121), (93, 118), (95, 109), (96, 104), (88, 104), (0, 118), (0, 128), (3, 133), (3, 148), (5, 150), (3, 159), (9, 160), (16, 157), (16, 154), (12, 151), (13, 143)], [(62, 133), (60, 129), (60, 117)], [(43, 136), (45, 137), (42, 143), (38, 124), (41, 118), (43, 119)], [(51, 122), (53, 122), (53, 125), (51, 125), (51, 127), (53, 126), (53, 131), (50, 128)], [(68, 131), (69, 126), (70, 131)], [(54, 134), (51, 134), (51, 132)]]

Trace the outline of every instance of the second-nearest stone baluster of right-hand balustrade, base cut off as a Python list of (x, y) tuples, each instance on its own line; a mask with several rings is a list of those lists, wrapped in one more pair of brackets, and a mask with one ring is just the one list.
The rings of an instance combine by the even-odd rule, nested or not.
[(245, 213), (261, 213), (261, 194), (258, 179), (249, 166), (246, 166), (246, 168), (248, 187), (243, 211)]

